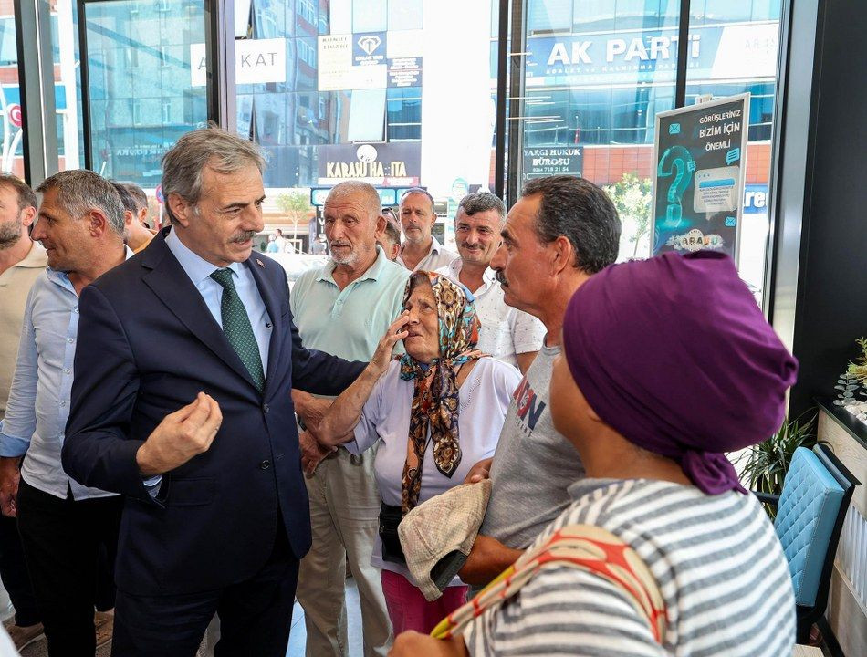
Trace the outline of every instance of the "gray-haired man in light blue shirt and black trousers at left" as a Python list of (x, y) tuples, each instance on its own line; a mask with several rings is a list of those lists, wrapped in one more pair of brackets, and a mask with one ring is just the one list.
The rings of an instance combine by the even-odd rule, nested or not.
[(0, 505), (18, 517), (49, 654), (93, 654), (98, 556), (104, 546), (113, 561), (120, 498), (69, 479), (60, 450), (78, 295), (125, 259), (123, 206), (110, 183), (87, 171), (57, 173), (37, 192), (43, 199), (32, 237), (46, 247), (48, 269), (27, 298), (0, 433)]

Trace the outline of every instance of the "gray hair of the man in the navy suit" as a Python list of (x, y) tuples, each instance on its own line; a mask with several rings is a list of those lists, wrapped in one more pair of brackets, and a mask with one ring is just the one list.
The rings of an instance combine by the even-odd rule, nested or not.
[[(187, 203), (198, 203), (202, 195), (202, 172), (210, 167), (217, 173), (235, 173), (250, 165), (265, 172), (265, 154), (258, 145), (215, 126), (187, 132), (162, 157), (162, 194), (178, 194)], [(166, 203), (172, 224), (176, 219)]]

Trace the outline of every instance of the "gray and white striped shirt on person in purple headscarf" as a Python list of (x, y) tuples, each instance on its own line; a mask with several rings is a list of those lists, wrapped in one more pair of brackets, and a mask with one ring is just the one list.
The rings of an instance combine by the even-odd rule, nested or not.
[[(795, 600), (774, 528), (752, 495), (705, 495), (645, 479), (585, 479), (538, 537), (560, 527), (608, 529), (641, 556), (665, 600), (664, 645), (626, 594), (569, 568), (541, 570), (499, 610), (466, 629), (474, 655), (789, 657)], [(535, 545), (535, 544), (534, 544)]]

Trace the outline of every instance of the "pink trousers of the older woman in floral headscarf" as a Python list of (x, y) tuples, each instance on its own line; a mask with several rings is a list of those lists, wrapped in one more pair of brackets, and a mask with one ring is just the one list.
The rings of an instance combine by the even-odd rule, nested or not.
[(382, 570), (382, 592), (392, 619), (394, 636), (407, 630), (430, 634), (440, 620), (465, 603), (468, 589), (465, 586), (448, 587), (438, 600), (428, 602), (424, 600), (422, 591), (408, 579), (391, 570)]

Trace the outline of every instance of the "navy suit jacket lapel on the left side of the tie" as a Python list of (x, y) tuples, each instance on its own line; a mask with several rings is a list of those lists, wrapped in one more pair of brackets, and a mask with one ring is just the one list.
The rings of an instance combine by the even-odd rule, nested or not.
[(165, 245), (163, 234), (156, 235), (145, 249), (141, 266), (151, 271), (143, 277), (145, 285), (153, 290), (162, 303), (180, 319), (193, 335), (204, 342), (208, 349), (242, 376), (256, 389), (256, 384), (235, 349), (225, 338), (220, 325), (204, 303), (199, 290), (190, 276)]

